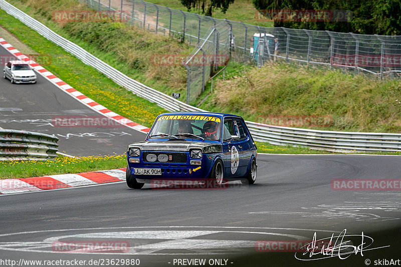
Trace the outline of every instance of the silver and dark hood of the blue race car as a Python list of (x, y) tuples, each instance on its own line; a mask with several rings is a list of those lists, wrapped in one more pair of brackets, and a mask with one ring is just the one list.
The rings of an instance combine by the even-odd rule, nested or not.
[(141, 141), (132, 143), (129, 147), (150, 151), (189, 151), (192, 148), (200, 148), (203, 153), (223, 151), (222, 144), (199, 141)]

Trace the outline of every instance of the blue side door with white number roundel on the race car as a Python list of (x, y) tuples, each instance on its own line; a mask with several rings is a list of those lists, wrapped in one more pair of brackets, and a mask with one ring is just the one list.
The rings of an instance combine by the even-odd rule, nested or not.
[(223, 154), (224, 154), (224, 176), (242, 176), (239, 168), (242, 151), (239, 142), (231, 138), (235, 134), (232, 118), (225, 118), (223, 123)]

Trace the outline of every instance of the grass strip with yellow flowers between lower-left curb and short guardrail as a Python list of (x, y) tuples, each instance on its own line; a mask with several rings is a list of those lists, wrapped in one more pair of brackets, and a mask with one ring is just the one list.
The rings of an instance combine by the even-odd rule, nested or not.
[(127, 159), (125, 154), (77, 158), (58, 156), (53, 160), (47, 161), (2, 161), (1, 166), (0, 179), (27, 178), (123, 168), (127, 166)]

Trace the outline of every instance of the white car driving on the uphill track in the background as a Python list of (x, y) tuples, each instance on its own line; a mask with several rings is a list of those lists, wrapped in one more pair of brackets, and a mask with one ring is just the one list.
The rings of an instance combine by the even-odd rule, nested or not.
[(11, 83), (36, 83), (36, 73), (22, 60), (9, 61), (4, 66), (3, 77)]

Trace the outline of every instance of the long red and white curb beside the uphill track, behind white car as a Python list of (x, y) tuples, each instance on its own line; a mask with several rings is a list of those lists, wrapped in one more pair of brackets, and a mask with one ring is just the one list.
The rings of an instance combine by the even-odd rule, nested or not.
[[(80, 91), (74, 89), (71, 85), (67, 84), (60, 78), (58, 78), (56, 75), (54, 75), (52, 72), (48, 71), (46, 68), (43, 66), (39, 65), (37, 62), (31, 60), (28, 56), (25, 54), (21, 53), (19, 50), (17, 50), (13, 45), (8, 43), (4, 38), (0, 36), (0, 45), (2, 45), (4, 48), (6, 48), (11, 54), (13, 54), (15, 57), (19, 58), (20, 60), (26, 61), (30, 66), (32, 66), (40, 75), (44, 76), (46, 79), (48, 79), (50, 82), (52, 82), (54, 85), (59, 87), (61, 90), (64, 92), (68, 93), (78, 101), (82, 102), (89, 108), (95, 110), (96, 112), (114, 120), (117, 121), (118, 123), (121, 123), (122, 125), (125, 125), (127, 127), (130, 127), (132, 129), (141, 131), (141, 132), (149, 132), (150, 128), (143, 126), (139, 123), (136, 123), (126, 117), (123, 117), (110, 109), (106, 108), (105, 106), (95, 102), (85, 94), (81, 93)], [(7, 62), (5, 62), (7, 63)], [(4, 67), (4, 66), (2, 66)]]

